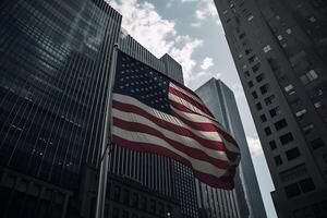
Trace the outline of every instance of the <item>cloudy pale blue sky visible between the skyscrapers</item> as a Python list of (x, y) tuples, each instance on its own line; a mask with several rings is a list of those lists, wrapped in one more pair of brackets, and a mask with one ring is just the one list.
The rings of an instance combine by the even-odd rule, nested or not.
[(107, 0), (122, 15), (122, 26), (157, 58), (169, 53), (183, 66), (187, 87), (211, 77), (234, 93), (268, 218), (276, 218), (274, 184), (213, 0)]

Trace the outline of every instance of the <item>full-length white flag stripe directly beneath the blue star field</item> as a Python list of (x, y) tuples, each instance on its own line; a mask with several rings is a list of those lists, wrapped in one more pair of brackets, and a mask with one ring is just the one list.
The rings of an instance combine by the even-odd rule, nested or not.
[[(156, 110), (154, 108), (150, 108), (150, 107), (146, 106), (145, 104), (136, 100), (133, 97), (114, 93), (113, 96), (112, 96), (112, 99), (117, 100), (117, 101), (120, 101), (120, 102), (123, 102), (123, 104), (134, 105), (135, 107), (138, 107), (138, 108), (143, 109), (144, 111), (146, 111), (147, 113), (154, 116), (155, 118), (158, 118), (158, 119), (165, 120), (167, 122), (170, 122), (174, 125), (179, 125), (181, 128), (187, 129), (192, 133), (194, 133), (196, 136), (202, 137), (204, 140), (209, 140), (209, 141), (217, 142), (217, 138), (219, 138), (219, 134), (217, 132), (206, 132), (206, 131), (194, 130), (191, 126), (183, 123), (182, 121), (180, 121), (178, 118), (175, 118), (173, 116), (170, 116), (170, 114), (167, 114), (165, 112), (161, 112), (159, 110)], [(221, 142), (221, 141), (218, 141), (218, 142)]]

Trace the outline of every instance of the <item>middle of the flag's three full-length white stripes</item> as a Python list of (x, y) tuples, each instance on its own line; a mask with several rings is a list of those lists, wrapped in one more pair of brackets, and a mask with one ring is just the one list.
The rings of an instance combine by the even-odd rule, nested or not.
[(177, 134), (172, 131), (169, 131), (168, 129), (164, 129), (164, 128), (157, 125), (156, 123), (154, 123), (153, 121), (150, 121), (142, 116), (138, 116), (136, 113), (123, 112), (123, 111), (120, 111), (120, 110), (113, 108), (112, 116), (114, 118), (119, 118), (119, 119), (128, 121), (128, 122), (142, 123), (144, 125), (147, 125), (152, 129), (159, 131), (166, 137), (183, 144), (186, 148), (190, 147), (190, 148), (199, 149), (199, 150), (204, 152), (206, 155), (208, 155), (215, 159), (229, 161), (225, 152), (204, 147), (203, 145), (201, 145), (198, 142), (196, 142), (192, 137), (183, 136), (183, 135)]

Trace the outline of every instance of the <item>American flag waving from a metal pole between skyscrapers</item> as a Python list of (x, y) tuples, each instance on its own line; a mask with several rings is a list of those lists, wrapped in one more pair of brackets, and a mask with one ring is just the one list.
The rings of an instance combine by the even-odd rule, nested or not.
[(118, 51), (111, 140), (173, 158), (213, 187), (233, 189), (240, 150), (187, 87)]

